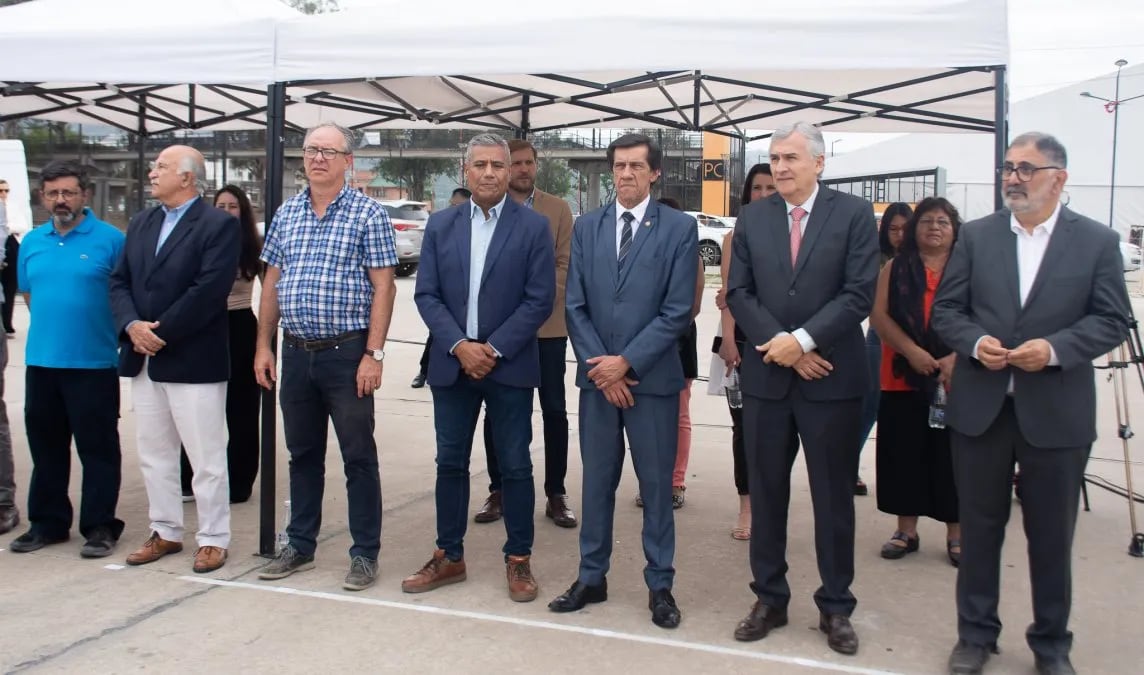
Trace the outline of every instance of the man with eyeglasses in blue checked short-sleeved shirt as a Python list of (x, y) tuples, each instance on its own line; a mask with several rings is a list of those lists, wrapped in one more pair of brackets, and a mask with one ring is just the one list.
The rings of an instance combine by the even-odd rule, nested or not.
[(363, 590), (378, 578), (381, 549), (374, 392), (381, 387), (397, 294), (397, 249), (386, 209), (345, 183), (353, 168), (352, 132), (321, 124), (305, 135), (302, 157), (310, 184), (278, 208), (262, 249), (267, 277), (254, 373), (264, 388), (273, 387), (270, 344), (280, 320), (291, 522), (289, 543), (259, 578), (281, 579), (313, 567), (333, 420), (353, 540), (342, 588)]

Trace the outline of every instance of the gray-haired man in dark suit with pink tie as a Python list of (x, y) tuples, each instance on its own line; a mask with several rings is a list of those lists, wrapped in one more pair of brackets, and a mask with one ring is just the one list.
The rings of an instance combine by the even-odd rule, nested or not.
[(787, 624), (787, 509), (801, 439), (823, 582), (818, 626), (831, 649), (852, 654), (853, 439), (869, 378), (861, 323), (877, 278), (877, 227), (868, 201), (818, 182), (824, 150), (812, 125), (774, 132), (778, 193), (747, 205), (734, 229), (726, 304), (758, 352), (740, 365), (757, 602), (734, 637), (761, 640)]

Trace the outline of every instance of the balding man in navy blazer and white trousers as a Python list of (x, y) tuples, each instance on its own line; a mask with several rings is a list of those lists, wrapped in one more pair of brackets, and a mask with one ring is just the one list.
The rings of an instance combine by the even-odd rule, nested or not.
[(151, 515), (151, 537), (127, 563), (183, 549), (182, 443), (194, 468), (199, 516), (193, 570), (210, 572), (227, 562), (230, 546), (227, 295), (238, 269), (240, 228), (238, 219), (199, 198), (206, 162), (193, 148), (160, 152), (150, 178), (160, 206), (132, 219), (111, 275), (119, 375), (132, 378)]

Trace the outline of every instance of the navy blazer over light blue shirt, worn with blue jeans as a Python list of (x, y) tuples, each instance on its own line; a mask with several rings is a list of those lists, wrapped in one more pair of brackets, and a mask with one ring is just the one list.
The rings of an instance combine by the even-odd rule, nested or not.
[[(464, 340), (469, 315), (469, 264), (472, 202), (429, 216), (421, 241), (414, 301), (429, 326), (430, 387), (450, 387), (461, 362), (450, 354)], [(496, 220), (477, 299), (477, 340), (500, 354), (486, 376), (509, 387), (540, 387), (537, 332), (553, 312), (556, 256), (548, 219), (506, 197)]]

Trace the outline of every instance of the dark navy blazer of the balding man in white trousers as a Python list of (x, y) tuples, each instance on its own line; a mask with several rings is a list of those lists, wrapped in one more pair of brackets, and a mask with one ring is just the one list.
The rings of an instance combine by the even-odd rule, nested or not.
[(241, 248), (238, 219), (201, 198), (156, 254), (162, 227), (161, 207), (137, 214), (127, 225), (127, 241), (111, 273), (111, 310), (119, 331), (119, 374), (143, 370), (127, 325), (159, 321), (154, 333), (167, 342), (150, 359), (156, 382), (205, 383), (230, 379), (227, 296), (235, 285)]

